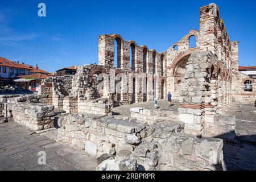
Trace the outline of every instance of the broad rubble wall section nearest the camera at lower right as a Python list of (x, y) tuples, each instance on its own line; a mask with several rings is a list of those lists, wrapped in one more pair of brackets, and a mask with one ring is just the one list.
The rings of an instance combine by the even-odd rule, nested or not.
[(134, 154), (146, 170), (215, 171), (224, 169), (222, 148), (221, 139), (179, 133), (167, 139), (149, 138), (135, 148)]

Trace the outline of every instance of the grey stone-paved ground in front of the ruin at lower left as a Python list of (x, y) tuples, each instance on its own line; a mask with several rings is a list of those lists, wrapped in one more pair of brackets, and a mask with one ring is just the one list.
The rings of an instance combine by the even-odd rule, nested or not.
[[(46, 165), (38, 164), (38, 152), (46, 152)], [(0, 125), (0, 170), (95, 170), (96, 160), (39, 135), (15, 122)]]

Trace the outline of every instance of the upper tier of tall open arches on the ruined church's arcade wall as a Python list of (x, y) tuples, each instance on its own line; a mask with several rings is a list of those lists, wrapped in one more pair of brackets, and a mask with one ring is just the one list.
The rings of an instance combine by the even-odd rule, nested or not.
[[(117, 50), (114, 47), (115, 41), (118, 44)], [(132, 55), (130, 55), (130, 49), (132, 49)], [(146, 46), (137, 46), (133, 40), (127, 42), (118, 34), (101, 35), (99, 38), (99, 64), (113, 68), (115, 53), (118, 57), (117, 68), (121, 68), (123, 72), (146, 72), (159, 76), (165, 72), (164, 53), (158, 53), (154, 49), (149, 50)], [(130, 57), (132, 58), (130, 59)], [(143, 61), (146, 61), (146, 64)]]

